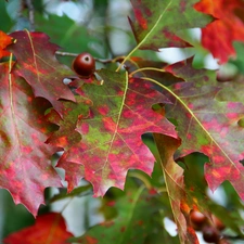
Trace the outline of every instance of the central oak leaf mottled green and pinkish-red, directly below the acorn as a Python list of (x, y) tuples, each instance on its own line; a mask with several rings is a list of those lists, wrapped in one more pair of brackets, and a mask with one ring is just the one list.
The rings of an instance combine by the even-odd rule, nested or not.
[(99, 75), (104, 80), (102, 86), (85, 84), (80, 91), (93, 101), (90, 117), (77, 126), (82, 141), (57, 165), (66, 170), (68, 191), (85, 177), (93, 184), (95, 196), (104, 195), (111, 187), (123, 189), (130, 168), (152, 172), (154, 157), (143, 144), (142, 133), (177, 137), (175, 127), (152, 110), (153, 104), (168, 101), (150, 82), (128, 80), (127, 74), (106, 69)]

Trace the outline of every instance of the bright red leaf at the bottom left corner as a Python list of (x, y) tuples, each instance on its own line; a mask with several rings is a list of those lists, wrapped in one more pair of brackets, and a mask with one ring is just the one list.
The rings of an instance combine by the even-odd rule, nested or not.
[(62, 215), (49, 213), (38, 216), (34, 226), (12, 233), (3, 241), (5, 244), (67, 244), (69, 237), (73, 234), (66, 230)]

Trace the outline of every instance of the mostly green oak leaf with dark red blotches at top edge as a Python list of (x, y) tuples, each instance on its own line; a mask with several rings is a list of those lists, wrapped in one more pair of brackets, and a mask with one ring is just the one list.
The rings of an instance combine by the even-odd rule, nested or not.
[(194, 10), (195, 2), (197, 0), (131, 0), (136, 21), (129, 21), (138, 48), (157, 51), (190, 46), (178, 36), (180, 30), (204, 27), (210, 21)]

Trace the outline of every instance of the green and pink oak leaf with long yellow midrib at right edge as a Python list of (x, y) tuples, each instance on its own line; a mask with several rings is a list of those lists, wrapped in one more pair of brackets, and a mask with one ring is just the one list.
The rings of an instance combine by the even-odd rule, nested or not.
[[(176, 121), (182, 139), (176, 157), (204, 153), (210, 159), (205, 165), (205, 178), (210, 189), (214, 191), (229, 180), (243, 198), (244, 106), (239, 103), (243, 102), (240, 92), (233, 94), (235, 88), (241, 91), (241, 82), (217, 82), (215, 72), (194, 69), (192, 59), (164, 69), (185, 81), (169, 87), (165, 87), (167, 80), (160, 81), (163, 93), (174, 103), (166, 106), (166, 116)], [(236, 102), (218, 101), (230, 101), (230, 97)]]

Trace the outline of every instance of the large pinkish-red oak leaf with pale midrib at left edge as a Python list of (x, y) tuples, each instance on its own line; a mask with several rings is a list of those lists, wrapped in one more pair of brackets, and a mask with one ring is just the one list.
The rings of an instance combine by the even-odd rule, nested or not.
[(43, 116), (47, 101), (35, 99), (23, 78), (9, 75), (7, 63), (0, 65), (0, 188), (36, 216), (44, 188), (61, 187), (49, 162), (56, 149), (44, 143), (51, 130)]

